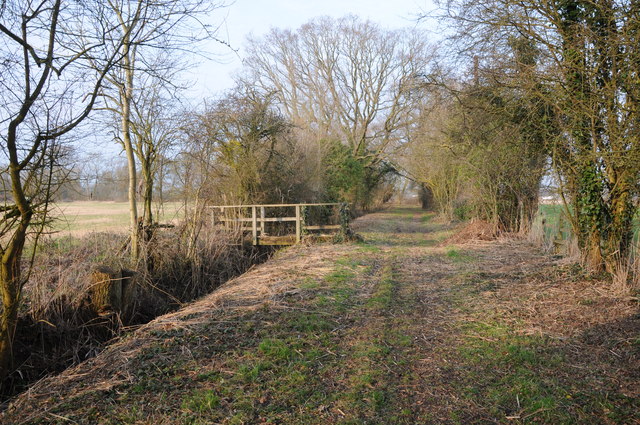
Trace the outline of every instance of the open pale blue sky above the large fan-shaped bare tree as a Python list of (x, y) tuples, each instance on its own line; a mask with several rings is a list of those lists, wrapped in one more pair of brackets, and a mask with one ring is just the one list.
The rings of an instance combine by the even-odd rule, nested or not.
[[(232, 53), (217, 43), (206, 49), (217, 55), (192, 71), (195, 80), (191, 96), (213, 97), (233, 86), (232, 74), (241, 67), (248, 35), (261, 36), (271, 28), (296, 29), (317, 16), (339, 18), (348, 14), (369, 19), (389, 29), (415, 27), (435, 31), (429, 22), (416, 22), (421, 11), (434, 8), (430, 0), (235, 0), (210, 17), (220, 24), (218, 35), (237, 50)], [(429, 28), (429, 27), (432, 28)]]

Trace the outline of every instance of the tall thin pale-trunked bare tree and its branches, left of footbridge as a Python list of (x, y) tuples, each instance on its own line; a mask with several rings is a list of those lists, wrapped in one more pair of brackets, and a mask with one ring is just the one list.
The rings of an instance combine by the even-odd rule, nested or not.
[[(145, 220), (151, 224), (151, 196), (153, 167), (164, 138), (149, 126), (159, 128), (149, 120), (157, 104), (144, 102), (144, 91), (167, 92), (178, 86), (174, 77), (188, 67), (180, 53), (189, 48), (198, 50), (198, 44), (211, 35), (202, 24), (201, 17), (220, 4), (206, 0), (109, 0), (107, 9), (117, 19), (118, 31), (123, 35), (123, 57), (119, 66), (107, 76), (109, 84), (103, 91), (107, 109), (114, 111), (118, 122), (116, 140), (120, 141), (127, 156), (129, 170), (129, 209), (131, 230), (131, 257), (136, 263), (138, 248), (138, 211), (136, 202), (136, 156), (141, 162), (145, 182)], [(204, 35), (203, 35), (204, 34)], [(170, 56), (173, 58), (170, 60)], [(179, 57), (180, 56), (180, 57)], [(152, 86), (137, 87), (152, 83)], [(137, 110), (136, 110), (137, 106)], [(135, 120), (138, 118), (138, 122)], [(143, 122), (146, 121), (146, 122)], [(147, 127), (146, 129), (144, 127)], [(133, 136), (133, 137), (132, 137)]]

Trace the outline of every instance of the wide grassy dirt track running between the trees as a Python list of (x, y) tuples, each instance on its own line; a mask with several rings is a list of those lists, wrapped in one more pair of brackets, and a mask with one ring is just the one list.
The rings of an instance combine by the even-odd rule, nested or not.
[(640, 317), (415, 208), (300, 246), (23, 394), (2, 423), (640, 423)]

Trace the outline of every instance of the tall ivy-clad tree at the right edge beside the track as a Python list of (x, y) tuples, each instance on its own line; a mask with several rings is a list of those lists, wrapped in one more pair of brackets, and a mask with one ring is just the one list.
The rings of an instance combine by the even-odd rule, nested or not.
[[(584, 263), (615, 272), (628, 258), (640, 192), (640, 5), (636, 1), (466, 0), (447, 4), (465, 49), (496, 57), (518, 35), (540, 56), (530, 74), (553, 109), (547, 137)], [(505, 82), (522, 81), (502, 76)]]

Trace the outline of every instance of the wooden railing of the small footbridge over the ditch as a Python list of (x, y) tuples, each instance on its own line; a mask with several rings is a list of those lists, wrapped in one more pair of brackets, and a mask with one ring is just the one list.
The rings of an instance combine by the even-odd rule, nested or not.
[[(292, 245), (302, 240), (304, 232), (332, 231), (340, 229), (340, 224), (307, 225), (303, 208), (339, 207), (339, 203), (318, 204), (266, 204), (266, 205), (215, 205), (211, 206), (212, 223), (222, 223), (226, 226), (239, 227), (243, 232), (251, 232), (253, 245)], [(293, 208), (295, 214), (285, 217), (268, 217), (267, 210), (276, 208)], [(250, 210), (250, 216), (244, 214)], [(229, 214), (231, 212), (231, 214)], [(337, 216), (337, 214), (336, 214)], [(291, 236), (269, 236), (266, 232), (267, 223), (295, 223), (295, 238)], [(251, 223), (250, 227), (245, 223)]]

